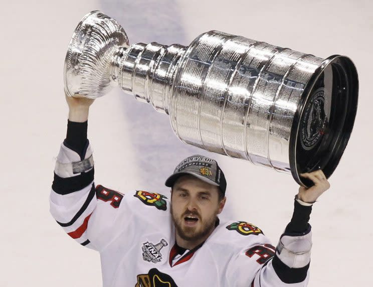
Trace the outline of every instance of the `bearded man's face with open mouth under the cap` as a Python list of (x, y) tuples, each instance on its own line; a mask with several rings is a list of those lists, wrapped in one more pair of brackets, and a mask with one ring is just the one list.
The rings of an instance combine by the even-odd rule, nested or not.
[(226, 199), (219, 201), (218, 187), (185, 175), (172, 187), (171, 214), (176, 235), (186, 241), (204, 241), (214, 230), (216, 216)]

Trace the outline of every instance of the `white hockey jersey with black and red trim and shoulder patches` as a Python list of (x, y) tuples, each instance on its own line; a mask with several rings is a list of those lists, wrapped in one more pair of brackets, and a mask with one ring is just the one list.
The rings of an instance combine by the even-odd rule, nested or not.
[(307, 284), (310, 232), (284, 234), (276, 252), (260, 228), (220, 222), (201, 246), (176, 254), (169, 200), (158, 193), (121, 194), (95, 186), (92, 167), (79, 172), (91, 158), (90, 147), (80, 158), (61, 145), (50, 211), (70, 237), (100, 252), (103, 286)]

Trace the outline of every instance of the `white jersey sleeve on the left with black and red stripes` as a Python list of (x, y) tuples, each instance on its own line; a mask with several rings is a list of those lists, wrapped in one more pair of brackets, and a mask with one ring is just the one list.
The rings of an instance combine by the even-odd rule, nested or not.
[[(65, 232), (79, 244), (101, 251), (119, 229), (128, 225), (131, 210), (121, 208), (123, 194), (94, 184), (92, 149), (87, 145), (82, 155), (61, 145), (50, 193), (50, 212)], [(121, 214), (121, 216), (119, 216)], [(123, 222), (118, 222), (123, 221)], [(128, 239), (130, 240), (130, 238)]]

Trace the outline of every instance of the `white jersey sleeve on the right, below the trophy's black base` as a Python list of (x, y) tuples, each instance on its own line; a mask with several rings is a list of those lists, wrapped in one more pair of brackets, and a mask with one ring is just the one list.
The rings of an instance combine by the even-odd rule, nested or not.
[[(253, 236), (253, 235), (251, 235)], [(311, 227), (284, 233), (277, 247), (265, 236), (235, 254), (227, 267), (228, 286), (306, 286), (309, 279)]]

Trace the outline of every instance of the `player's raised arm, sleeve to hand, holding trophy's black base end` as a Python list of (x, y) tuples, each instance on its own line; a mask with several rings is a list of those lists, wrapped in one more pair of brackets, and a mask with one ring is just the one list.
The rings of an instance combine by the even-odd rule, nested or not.
[[(330, 185), (322, 171), (302, 176), (312, 180), (314, 185), (309, 189), (299, 188), (294, 200), (293, 216), (281, 235), (277, 247), (269, 245), (268, 241), (263, 239), (263, 242), (258, 242), (259, 244), (242, 249), (240, 254), (232, 258), (227, 268), (228, 285), (251, 287), (307, 285), (312, 246), (311, 226), (308, 220), (312, 204)], [(256, 271), (253, 273), (252, 270)]]

